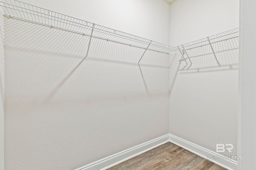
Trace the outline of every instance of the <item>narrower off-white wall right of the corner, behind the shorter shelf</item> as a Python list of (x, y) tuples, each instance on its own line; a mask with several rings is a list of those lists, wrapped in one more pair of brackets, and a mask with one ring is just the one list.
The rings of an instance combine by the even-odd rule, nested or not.
[[(239, 26), (239, 0), (177, 0), (170, 23), (170, 45), (233, 29)], [(216, 143), (231, 143), (236, 155), (238, 39), (213, 46), (220, 66), (210, 46), (188, 51), (190, 68), (179, 53), (171, 55), (170, 133), (212, 151)]]

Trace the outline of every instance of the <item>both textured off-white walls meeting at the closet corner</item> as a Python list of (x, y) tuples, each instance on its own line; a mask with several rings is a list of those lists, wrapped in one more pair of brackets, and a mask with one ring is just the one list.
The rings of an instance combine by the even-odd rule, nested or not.
[[(170, 45), (238, 27), (238, 0), (24, 1)], [(139, 67), (143, 49), (92, 39), (84, 61), (88, 37), (4, 24), (6, 170), (75, 169), (169, 131), (236, 154), (238, 39), (214, 44), (220, 65), (205, 46), (188, 51), (194, 67), (152, 51)]]

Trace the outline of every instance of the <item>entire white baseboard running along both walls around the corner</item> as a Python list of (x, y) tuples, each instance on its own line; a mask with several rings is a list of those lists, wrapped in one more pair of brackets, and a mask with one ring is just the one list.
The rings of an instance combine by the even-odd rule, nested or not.
[[(76, 170), (105, 170), (107, 168), (120, 164), (121, 162), (124, 162), (130, 158), (133, 158), (134, 156), (142, 154), (150, 149), (158, 147), (159, 145), (162, 145), (167, 142), (174, 143), (228, 170), (237, 170), (237, 161), (227, 159), (216, 152), (200, 147), (194, 143), (191, 143), (189, 141), (176, 137), (172, 134), (167, 134), (162, 137), (158, 137), (156, 139), (153, 139), (146, 143), (142, 143), (140, 145), (137, 145), (136, 147), (132, 147), (130, 149), (124, 150), (112, 156), (108, 156), (106, 158), (103, 158), (101, 160), (88, 164)], [(211, 159), (216, 157), (218, 157), (219, 159)]]

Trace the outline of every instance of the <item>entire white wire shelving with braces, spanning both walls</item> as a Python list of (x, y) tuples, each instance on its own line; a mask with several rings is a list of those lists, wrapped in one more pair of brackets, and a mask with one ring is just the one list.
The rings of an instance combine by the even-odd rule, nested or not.
[[(118, 31), (116, 29), (104, 27), (102, 25), (98, 25), (92, 22), (80, 20), (78, 18), (54, 12), (52, 10), (34, 6), (25, 2), (21, 2), (19, 0), (0, 0), (0, 6), (3, 8), (4, 16), (6, 17), (11, 17), (22, 21), (29, 21), (32, 23), (46, 25), (49, 27), (89, 36), (90, 39), (88, 42), (87, 53), (85, 55), (86, 60), (88, 59), (88, 52), (90, 49), (92, 37), (94, 37), (98, 39), (104, 39), (106, 41), (112, 41), (115, 43), (121, 43), (124, 45), (129, 45), (131, 47), (138, 47), (144, 49), (144, 53), (140, 57), (140, 60), (142, 59), (147, 50), (157, 51), (159, 53), (166, 54), (170, 54), (170, 52), (172, 51), (179, 51), (187, 66), (188, 62), (185, 59), (185, 54), (190, 61), (191, 66), (193, 66), (193, 63), (188, 56), (187, 50), (210, 45), (216, 59), (216, 63), (218, 63), (218, 59), (214, 52), (212, 44), (236, 38), (239, 36), (239, 28), (235, 28), (224, 31), (222, 33), (211, 35), (209, 37), (198, 39), (190, 43), (178, 45), (177, 47), (173, 47), (170, 45), (138, 37), (136, 35)], [(138, 61), (138, 65), (140, 60)]]

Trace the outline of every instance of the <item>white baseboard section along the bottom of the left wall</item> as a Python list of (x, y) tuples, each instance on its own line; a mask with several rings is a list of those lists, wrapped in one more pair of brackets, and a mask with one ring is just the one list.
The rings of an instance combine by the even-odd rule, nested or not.
[(167, 142), (169, 142), (169, 134), (158, 137), (146, 143), (142, 143), (136, 147), (124, 150), (112, 156), (108, 156), (76, 170), (105, 170)]

